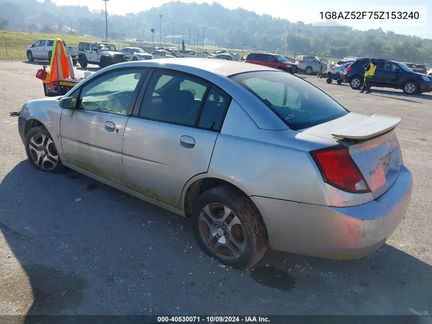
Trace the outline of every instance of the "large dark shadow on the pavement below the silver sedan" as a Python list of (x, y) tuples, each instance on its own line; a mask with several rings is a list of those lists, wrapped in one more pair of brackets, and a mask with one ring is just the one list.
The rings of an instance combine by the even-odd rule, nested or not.
[(269, 250), (253, 271), (228, 272), (190, 243), (190, 219), (72, 170), (19, 162), (0, 183), (0, 211), (0, 269), (16, 261), (24, 273), (6, 277), (0, 299), (28, 315), (432, 311), (432, 267), (390, 245), (353, 261)]

